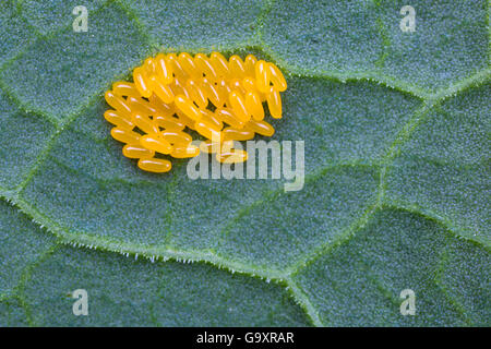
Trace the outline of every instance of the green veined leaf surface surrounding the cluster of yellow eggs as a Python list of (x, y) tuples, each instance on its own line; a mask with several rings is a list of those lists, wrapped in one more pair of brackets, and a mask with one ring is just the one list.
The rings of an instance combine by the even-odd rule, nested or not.
[[(487, 1), (412, 1), (411, 33), (402, 1), (87, 1), (74, 33), (79, 4), (0, 14), (0, 326), (489, 326)], [(122, 156), (104, 92), (181, 50), (280, 67), (300, 191)]]

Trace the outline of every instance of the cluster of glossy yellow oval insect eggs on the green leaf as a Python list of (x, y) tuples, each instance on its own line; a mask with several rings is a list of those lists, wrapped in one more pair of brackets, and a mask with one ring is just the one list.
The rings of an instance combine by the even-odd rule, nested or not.
[[(218, 52), (209, 57), (159, 53), (134, 69), (133, 82), (116, 82), (106, 92), (113, 109), (104, 117), (115, 125), (112, 137), (125, 144), (123, 155), (139, 159), (142, 170), (170, 170), (171, 163), (157, 154), (185, 158), (200, 151), (233, 164), (248, 157), (232, 148), (233, 141), (252, 140), (255, 133), (273, 135), (274, 128), (264, 121), (263, 103), (273, 118), (282, 118), (279, 93), (286, 88), (279, 69), (252, 55), (242, 61)], [(185, 128), (206, 141), (191, 144)]]

